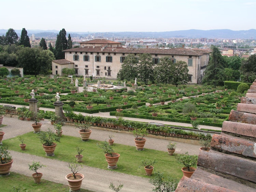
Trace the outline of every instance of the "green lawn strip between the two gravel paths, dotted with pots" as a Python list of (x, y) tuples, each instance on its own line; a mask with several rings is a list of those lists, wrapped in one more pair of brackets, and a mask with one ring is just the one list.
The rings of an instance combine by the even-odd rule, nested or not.
[[(82, 142), (79, 137), (62, 135), (60, 143), (57, 143), (56, 150), (54, 152), (55, 156), (46, 157), (42, 144), (37, 138), (37, 134), (29, 132), (24, 134), (23, 137), (25, 138), (24, 143), (27, 145), (25, 151), (20, 149), (20, 141), (17, 137), (4, 140), (4, 145), (8, 145), (10, 150), (66, 162), (72, 162), (74, 160), (74, 156), (77, 154), (76, 146), (80, 146), (85, 149), (82, 152), (84, 156), (82, 162), (83, 165), (108, 170), (108, 164), (105, 160), (104, 153), (102, 149), (97, 146), (99, 141), (89, 139), (87, 142)], [(120, 154), (120, 158), (117, 162), (118, 168), (113, 171), (150, 178), (150, 176), (145, 175), (144, 168), (140, 167), (140, 161), (143, 158), (150, 157), (157, 160), (157, 163), (154, 164), (155, 171), (159, 171), (164, 173), (165, 176), (171, 176), (177, 179), (180, 179), (183, 175), (181, 171), (183, 165), (177, 163), (175, 155), (169, 156), (168, 152), (146, 148), (144, 151), (138, 151), (135, 146), (132, 147), (121, 144), (114, 144), (113, 149), (115, 152)]]

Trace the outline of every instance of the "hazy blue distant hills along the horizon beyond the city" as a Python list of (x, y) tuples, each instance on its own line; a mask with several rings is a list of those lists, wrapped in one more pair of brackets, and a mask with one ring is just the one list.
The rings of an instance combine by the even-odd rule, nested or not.
[[(6, 29), (0, 29), (0, 35), (6, 34)], [(22, 30), (15, 30), (20, 36)], [(57, 30), (27, 30), (28, 35), (35, 34), (37, 38), (56, 38)], [(229, 29), (215, 30), (181, 30), (166, 32), (69, 32), (71, 37), (86, 37), (88, 34), (102, 38), (224, 38), (224, 39), (256, 39), (256, 29), (233, 31)]]

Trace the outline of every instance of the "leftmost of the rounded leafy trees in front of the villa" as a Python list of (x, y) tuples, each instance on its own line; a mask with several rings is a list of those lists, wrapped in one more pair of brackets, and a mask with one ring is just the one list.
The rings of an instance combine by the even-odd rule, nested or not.
[(122, 63), (121, 69), (117, 73), (117, 78), (120, 80), (131, 80), (138, 77), (138, 59), (134, 54), (128, 54)]

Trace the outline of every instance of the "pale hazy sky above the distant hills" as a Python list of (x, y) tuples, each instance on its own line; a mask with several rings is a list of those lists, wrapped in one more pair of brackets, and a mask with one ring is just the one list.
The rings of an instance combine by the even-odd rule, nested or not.
[[(4, 1), (4, 2), (3, 2)], [(2, 0), (0, 29), (256, 29), (256, 0)]]

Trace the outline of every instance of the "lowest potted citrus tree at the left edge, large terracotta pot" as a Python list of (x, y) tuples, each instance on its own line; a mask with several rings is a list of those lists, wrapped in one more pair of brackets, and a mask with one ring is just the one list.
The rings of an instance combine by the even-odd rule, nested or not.
[(0, 145), (0, 175), (9, 175), (13, 159), (8, 147)]

